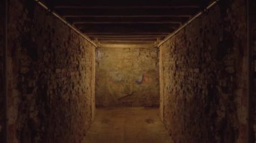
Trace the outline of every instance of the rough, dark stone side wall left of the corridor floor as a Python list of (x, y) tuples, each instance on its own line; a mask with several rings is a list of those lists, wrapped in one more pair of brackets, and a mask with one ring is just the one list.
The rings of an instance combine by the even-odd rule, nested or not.
[(9, 142), (82, 142), (95, 48), (34, 1), (10, 0)]

